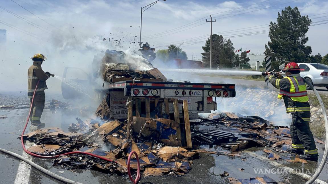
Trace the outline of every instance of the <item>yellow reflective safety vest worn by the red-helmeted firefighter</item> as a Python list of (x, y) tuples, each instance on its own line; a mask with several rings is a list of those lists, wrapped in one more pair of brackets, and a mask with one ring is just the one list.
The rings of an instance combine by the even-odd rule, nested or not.
[(278, 99), (282, 99), (282, 96), (290, 97), (293, 101), (307, 102), (309, 97), (306, 92), (305, 82), (301, 77), (287, 76), (284, 77), (290, 82), (290, 91), (284, 91), (280, 89)]

